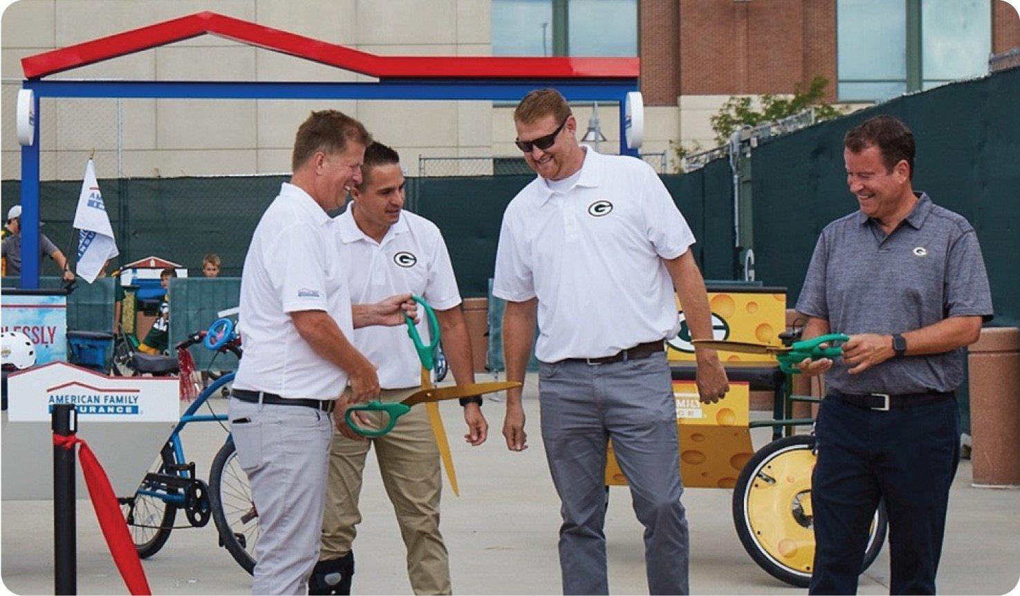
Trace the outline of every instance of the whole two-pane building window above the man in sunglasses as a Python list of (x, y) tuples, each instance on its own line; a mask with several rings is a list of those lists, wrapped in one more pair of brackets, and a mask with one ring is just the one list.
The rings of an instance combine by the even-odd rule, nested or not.
[(638, 0), (493, 0), (494, 56), (636, 56)]

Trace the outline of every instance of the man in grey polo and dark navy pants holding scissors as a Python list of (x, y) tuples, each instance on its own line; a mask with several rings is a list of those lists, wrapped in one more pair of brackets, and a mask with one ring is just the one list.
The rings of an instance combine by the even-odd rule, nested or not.
[(965, 346), (991, 318), (974, 228), (915, 193), (914, 137), (889, 116), (844, 140), (860, 210), (822, 230), (797, 311), (804, 337), (851, 335), (825, 372), (812, 476), (811, 594), (857, 592), (879, 499), (889, 520), (891, 594), (934, 594), (950, 485), (959, 458)]

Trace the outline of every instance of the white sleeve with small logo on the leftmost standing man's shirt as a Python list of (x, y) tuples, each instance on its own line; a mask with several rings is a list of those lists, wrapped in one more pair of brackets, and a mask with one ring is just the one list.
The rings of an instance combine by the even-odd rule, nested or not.
[(325, 311), (325, 247), (308, 224), (284, 228), (265, 256), (265, 267), (285, 313)]

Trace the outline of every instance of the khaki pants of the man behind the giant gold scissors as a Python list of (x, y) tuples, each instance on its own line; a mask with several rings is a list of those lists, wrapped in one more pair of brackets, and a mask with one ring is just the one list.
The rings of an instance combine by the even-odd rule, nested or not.
[[(400, 401), (415, 390), (385, 390), (381, 400)], [(369, 415), (377, 427), (382, 426), (385, 417), (381, 413)], [(407, 574), (414, 593), (450, 594), (450, 564), (440, 534), (443, 477), (439, 447), (423, 404), (402, 416), (381, 437), (354, 441), (334, 432), (319, 559), (339, 558), (351, 551), (355, 527), (361, 522), (358, 497), (371, 445), (375, 446), (382, 484), (407, 546)]]

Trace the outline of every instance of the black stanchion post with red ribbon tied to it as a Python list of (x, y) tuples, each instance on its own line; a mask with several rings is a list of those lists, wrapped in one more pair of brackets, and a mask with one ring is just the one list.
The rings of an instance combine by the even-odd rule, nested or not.
[[(53, 433), (78, 430), (73, 404), (56, 403), (51, 415)], [(74, 512), (74, 449), (53, 445), (53, 562), (54, 594), (78, 594), (78, 545)]]

